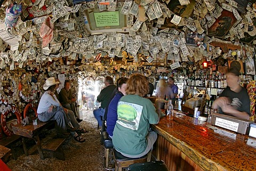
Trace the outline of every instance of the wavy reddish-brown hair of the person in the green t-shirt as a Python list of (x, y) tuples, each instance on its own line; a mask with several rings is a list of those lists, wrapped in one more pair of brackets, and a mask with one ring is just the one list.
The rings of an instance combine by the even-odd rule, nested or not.
[(148, 93), (148, 80), (140, 74), (133, 74), (127, 82), (126, 94), (145, 96)]

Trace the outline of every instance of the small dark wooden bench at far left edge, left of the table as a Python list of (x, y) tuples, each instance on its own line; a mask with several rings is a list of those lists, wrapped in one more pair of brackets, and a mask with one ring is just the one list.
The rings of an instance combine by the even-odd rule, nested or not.
[(3, 145), (7, 148), (10, 148), (11, 151), (12, 151), (12, 156), (13, 156), (13, 159), (16, 160), (17, 159), (17, 156), (15, 154), (15, 150), (14, 150), (14, 147), (17, 146), (15, 145), (17, 142), (21, 141), (21, 136), (19, 135), (11, 135), (11, 136), (6, 136), (6, 137), (3, 137), (3, 139), (0, 140), (0, 145)]

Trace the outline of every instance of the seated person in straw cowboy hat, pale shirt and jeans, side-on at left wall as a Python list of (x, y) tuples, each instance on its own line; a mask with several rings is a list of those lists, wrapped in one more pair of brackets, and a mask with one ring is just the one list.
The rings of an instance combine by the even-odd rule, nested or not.
[(75, 132), (84, 133), (77, 123), (74, 113), (64, 109), (54, 94), (56, 84), (59, 84), (59, 82), (56, 82), (53, 77), (46, 79), (43, 85), (45, 92), (40, 99), (37, 109), (38, 119), (40, 121), (56, 120), (57, 133), (63, 134), (70, 131), (76, 141), (84, 142), (83, 137)]

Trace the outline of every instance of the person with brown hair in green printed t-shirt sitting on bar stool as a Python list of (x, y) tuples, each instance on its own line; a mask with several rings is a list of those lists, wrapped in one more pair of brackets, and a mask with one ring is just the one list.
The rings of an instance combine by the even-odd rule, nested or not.
[(149, 124), (158, 124), (159, 115), (153, 103), (143, 98), (148, 88), (145, 76), (133, 74), (127, 82), (126, 95), (118, 102), (112, 140), (115, 150), (125, 157), (145, 156), (157, 139)]

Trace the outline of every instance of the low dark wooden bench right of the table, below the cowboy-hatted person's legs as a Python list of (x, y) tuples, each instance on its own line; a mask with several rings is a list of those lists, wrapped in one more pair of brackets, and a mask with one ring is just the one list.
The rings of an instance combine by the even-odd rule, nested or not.
[(42, 150), (49, 151), (51, 157), (56, 157), (61, 160), (65, 160), (62, 144), (67, 138), (51, 139), (42, 145)]

